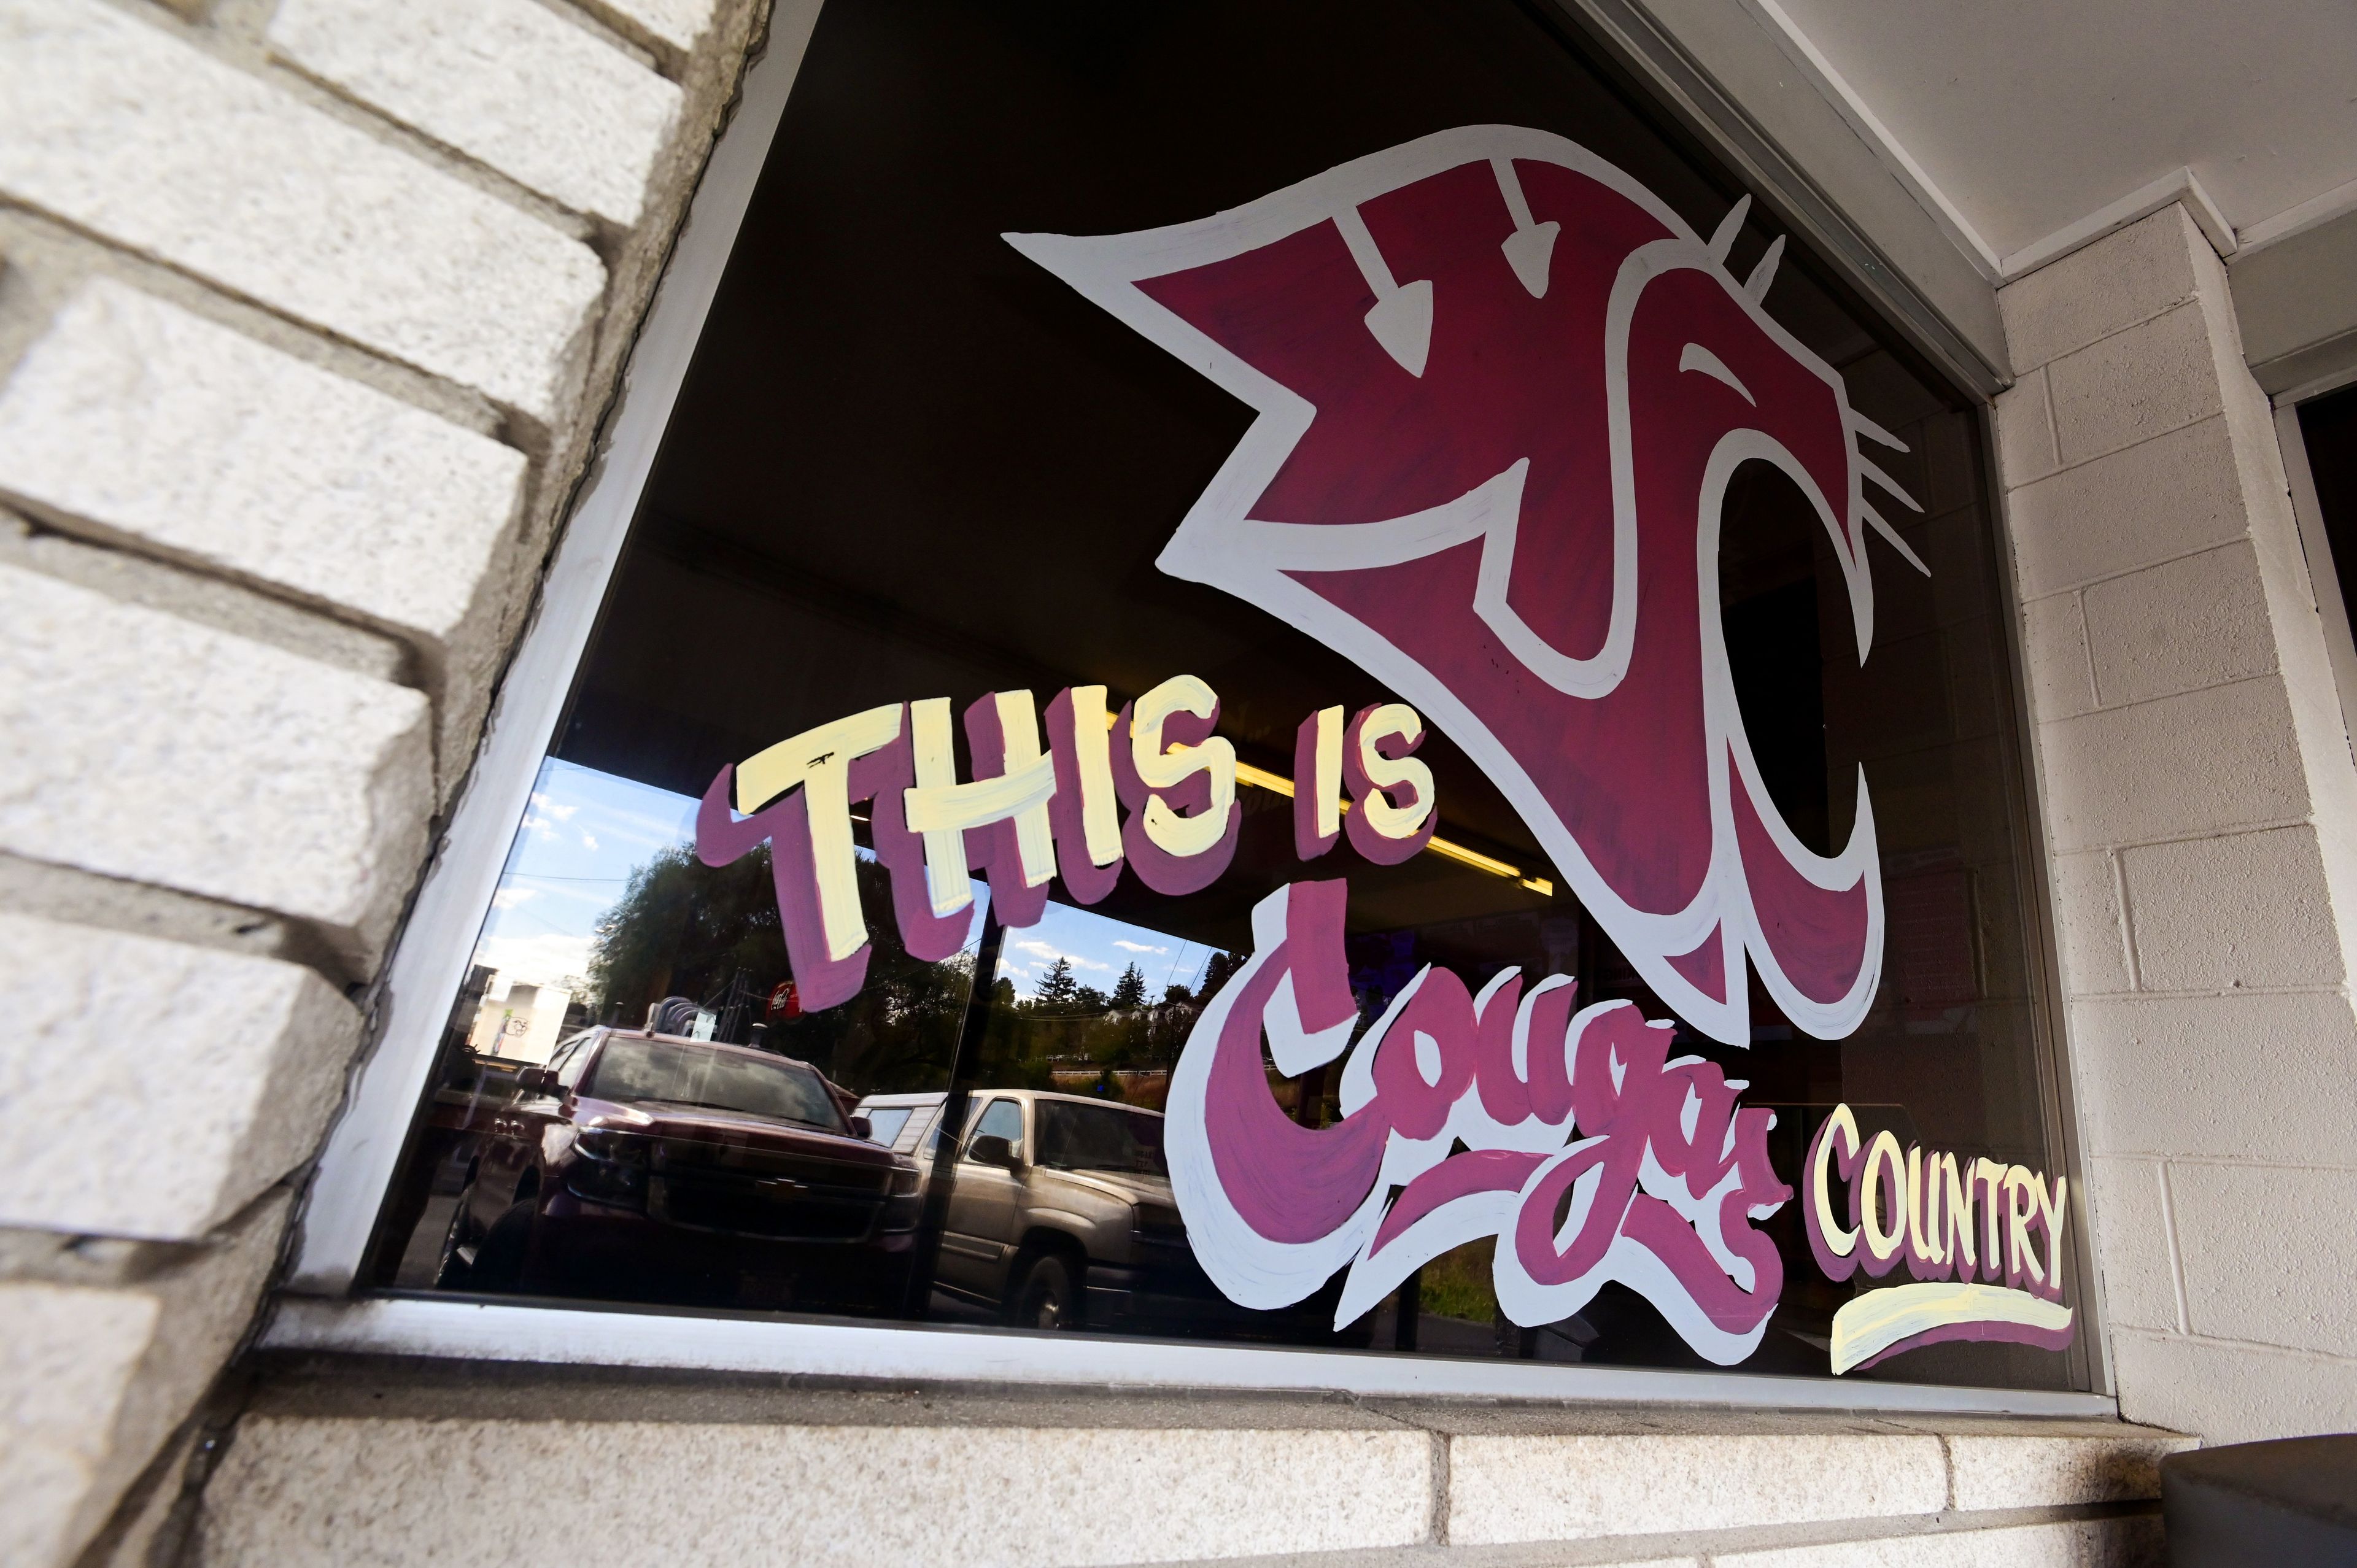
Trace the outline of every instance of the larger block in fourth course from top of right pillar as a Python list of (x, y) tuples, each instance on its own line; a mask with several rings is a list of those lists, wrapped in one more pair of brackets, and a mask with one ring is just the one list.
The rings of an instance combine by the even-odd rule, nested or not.
[(2275, 670), (2275, 627), (2249, 540), (2086, 589), (2086, 641), (2105, 707)]

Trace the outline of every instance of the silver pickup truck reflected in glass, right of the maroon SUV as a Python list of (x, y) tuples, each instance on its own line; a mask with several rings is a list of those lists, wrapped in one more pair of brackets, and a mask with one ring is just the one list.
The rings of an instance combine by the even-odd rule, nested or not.
[[(943, 1099), (870, 1096), (860, 1111), (905, 1108), (900, 1139), (931, 1165)], [(1336, 1290), (1259, 1313), (1211, 1285), (1171, 1198), (1162, 1125), (1160, 1111), (1080, 1094), (976, 1089), (933, 1287), (1018, 1327), (1365, 1342), (1362, 1327), (1334, 1335)]]

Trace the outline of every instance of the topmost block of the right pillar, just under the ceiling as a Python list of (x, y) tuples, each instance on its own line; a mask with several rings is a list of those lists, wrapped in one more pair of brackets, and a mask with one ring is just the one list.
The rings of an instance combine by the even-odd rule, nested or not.
[(2183, 207), (2164, 207), (1996, 290), (2013, 370), (2027, 375), (2192, 299), (2199, 285), (2192, 245), (2209, 241)]

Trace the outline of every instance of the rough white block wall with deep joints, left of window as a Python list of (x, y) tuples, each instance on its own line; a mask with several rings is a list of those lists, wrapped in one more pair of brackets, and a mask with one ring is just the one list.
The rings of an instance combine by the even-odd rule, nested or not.
[(0, 1561), (200, 1478), (766, 9), (0, 0)]

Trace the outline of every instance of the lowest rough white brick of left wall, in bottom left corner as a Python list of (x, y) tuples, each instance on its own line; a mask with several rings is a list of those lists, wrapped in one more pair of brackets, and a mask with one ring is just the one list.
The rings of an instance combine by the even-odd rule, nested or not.
[(125, 1285), (0, 1283), (0, 1561), (71, 1563), (97, 1535), (245, 1335), (285, 1212)]

